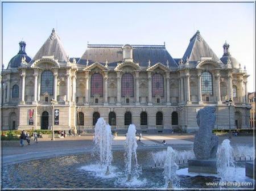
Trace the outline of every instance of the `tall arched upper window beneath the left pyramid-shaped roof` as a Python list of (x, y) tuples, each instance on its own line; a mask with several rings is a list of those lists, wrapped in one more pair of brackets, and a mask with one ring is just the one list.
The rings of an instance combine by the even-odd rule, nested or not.
[(53, 95), (53, 74), (49, 70), (44, 71), (41, 76), (41, 95), (46, 92)]

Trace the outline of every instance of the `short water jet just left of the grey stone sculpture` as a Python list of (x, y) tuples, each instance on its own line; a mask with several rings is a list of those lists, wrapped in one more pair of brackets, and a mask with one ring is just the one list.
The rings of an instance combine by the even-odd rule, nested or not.
[(176, 151), (172, 147), (167, 148), (166, 152), (166, 160), (164, 162), (164, 180), (166, 181), (167, 188), (172, 188), (174, 182), (176, 181), (176, 171), (178, 165), (175, 162), (176, 159)]

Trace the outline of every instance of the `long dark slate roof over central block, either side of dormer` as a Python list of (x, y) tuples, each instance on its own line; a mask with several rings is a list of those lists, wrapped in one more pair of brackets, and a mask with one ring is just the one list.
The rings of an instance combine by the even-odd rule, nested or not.
[[(88, 65), (94, 62), (100, 62), (105, 65), (108, 60), (109, 66), (117, 66), (123, 62), (123, 45), (97, 45), (88, 44), (88, 47), (82, 57), (77, 62), (82, 65)], [(151, 66), (161, 62), (164, 65), (169, 62), (170, 67), (177, 67), (177, 63), (166, 50), (165, 45), (131, 45), (133, 47), (133, 61), (139, 63), (139, 66), (148, 66), (150, 60)]]

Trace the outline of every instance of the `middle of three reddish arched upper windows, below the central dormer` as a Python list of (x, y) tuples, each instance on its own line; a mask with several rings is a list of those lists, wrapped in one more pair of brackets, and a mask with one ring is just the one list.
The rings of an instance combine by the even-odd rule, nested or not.
[(122, 96), (133, 97), (133, 75), (125, 73), (122, 76)]

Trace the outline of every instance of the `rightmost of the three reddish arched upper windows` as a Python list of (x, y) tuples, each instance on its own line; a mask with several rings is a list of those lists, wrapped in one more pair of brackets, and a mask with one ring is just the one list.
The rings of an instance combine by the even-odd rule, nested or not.
[(164, 82), (163, 75), (155, 73), (152, 76), (152, 96), (164, 96)]

